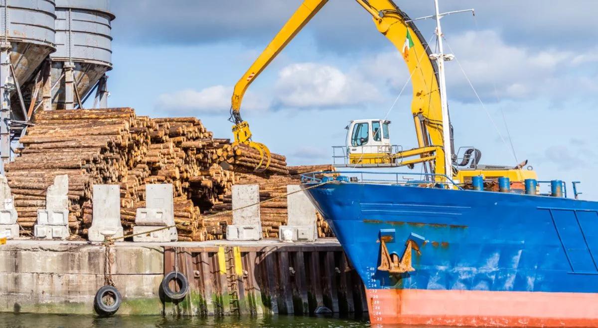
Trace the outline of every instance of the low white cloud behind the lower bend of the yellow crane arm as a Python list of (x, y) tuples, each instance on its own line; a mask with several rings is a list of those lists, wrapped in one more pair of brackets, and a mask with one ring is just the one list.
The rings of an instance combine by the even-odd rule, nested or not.
[[(231, 105), (233, 88), (223, 85), (210, 86), (200, 91), (184, 89), (158, 96), (157, 107), (172, 114), (222, 115), (228, 113)], [(247, 92), (243, 98), (243, 111), (267, 109), (265, 101)]]

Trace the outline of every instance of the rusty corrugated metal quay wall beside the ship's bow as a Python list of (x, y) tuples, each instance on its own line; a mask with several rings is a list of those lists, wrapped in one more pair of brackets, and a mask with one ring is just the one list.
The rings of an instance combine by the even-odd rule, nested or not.
[[(218, 247), (165, 247), (164, 273), (178, 268), (190, 280), (180, 303), (163, 299), (165, 314), (312, 314), (367, 312), (364, 285), (338, 245), (240, 247), (238, 310), (222, 274)], [(176, 254), (176, 256), (175, 256)]]

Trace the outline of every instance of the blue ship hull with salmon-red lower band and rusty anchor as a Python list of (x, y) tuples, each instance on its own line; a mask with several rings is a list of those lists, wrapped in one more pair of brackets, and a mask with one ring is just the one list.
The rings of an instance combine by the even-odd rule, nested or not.
[[(598, 323), (598, 202), (398, 184), (314, 186), (304, 184), (376, 302), (373, 323)], [(413, 234), (425, 239), (413, 252), (414, 271), (378, 269), (381, 234), (392, 234), (386, 246), (398, 256)], [(492, 308), (505, 297), (529, 311), (480, 304), (495, 300)], [(438, 302), (444, 312), (429, 309)], [(434, 315), (444, 319), (430, 321)]]

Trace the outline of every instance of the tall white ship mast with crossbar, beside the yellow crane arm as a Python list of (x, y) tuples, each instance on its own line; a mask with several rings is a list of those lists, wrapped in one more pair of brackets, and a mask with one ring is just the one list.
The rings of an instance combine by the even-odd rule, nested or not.
[(443, 30), (440, 26), (440, 19), (444, 16), (456, 13), (465, 13), (471, 11), (475, 15), (473, 9), (449, 11), (447, 13), (440, 13), (438, 8), (438, 0), (434, 0), (435, 15), (416, 18), (415, 20), (422, 20), (428, 18), (434, 18), (436, 20), (436, 35), (438, 44), (438, 53), (431, 54), (430, 59), (435, 60), (438, 64), (438, 84), (440, 88), (440, 103), (443, 113), (443, 144), (444, 144), (444, 174), (447, 177), (447, 184), (449, 188), (453, 187), (453, 183), (450, 179), (453, 177), (453, 148), (450, 138), (450, 119), (449, 119), (449, 102), (447, 100), (447, 86), (446, 86), (446, 75), (444, 72), (444, 62), (451, 61), (454, 58), (452, 54), (444, 54), (443, 47)]

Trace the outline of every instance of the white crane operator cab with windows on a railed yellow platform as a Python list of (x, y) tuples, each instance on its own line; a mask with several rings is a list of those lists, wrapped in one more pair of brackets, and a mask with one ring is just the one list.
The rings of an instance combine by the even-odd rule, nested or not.
[(346, 146), (333, 146), (335, 166), (396, 166), (393, 154), (400, 146), (390, 144), (389, 120), (352, 120), (347, 129)]

